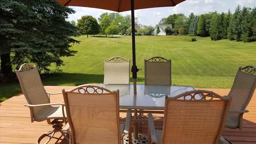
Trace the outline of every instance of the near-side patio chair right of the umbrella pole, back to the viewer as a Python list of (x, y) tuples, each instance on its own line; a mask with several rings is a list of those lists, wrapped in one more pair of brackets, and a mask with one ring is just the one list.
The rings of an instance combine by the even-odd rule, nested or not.
[(231, 96), (207, 90), (166, 97), (163, 130), (155, 130), (152, 114), (148, 114), (149, 144), (228, 144), (221, 135), (231, 100)]

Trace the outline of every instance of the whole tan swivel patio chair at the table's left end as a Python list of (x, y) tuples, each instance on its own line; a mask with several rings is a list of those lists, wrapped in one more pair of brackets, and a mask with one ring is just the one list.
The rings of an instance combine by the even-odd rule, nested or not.
[[(63, 106), (64, 103), (50, 103), (50, 94), (61, 93), (47, 93), (42, 84), (38, 69), (36, 66), (24, 63), (20, 66), (19, 70), (15, 70), (15, 73), (20, 82), (22, 92), (28, 102), (24, 106), (30, 108), (31, 122), (41, 122), (46, 120), (48, 124), (52, 125), (53, 130), (42, 134), (37, 144), (45, 137), (51, 134), (46, 140), (47, 144), (55, 132), (61, 132), (62, 135), (69, 140), (69, 138), (62, 132), (63, 123), (67, 123), (66, 110)], [(60, 106), (53, 106), (60, 105)]]

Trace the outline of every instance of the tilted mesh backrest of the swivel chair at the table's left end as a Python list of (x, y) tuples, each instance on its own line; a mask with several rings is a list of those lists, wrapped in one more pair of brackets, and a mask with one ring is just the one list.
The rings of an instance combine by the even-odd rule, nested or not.
[[(50, 99), (44, 89), (36, 66), (24, 63), (20, 66), (19, 70), (15, 70), (15, 73), (28, 104), (36, 105), (50, 103)], [(35, 119), (40, 119), (40, 114), (46, 111), (48, 107), (50, 106), (30, 107), (30, 110), (32, 110), (31, 121), (33, 122)]]

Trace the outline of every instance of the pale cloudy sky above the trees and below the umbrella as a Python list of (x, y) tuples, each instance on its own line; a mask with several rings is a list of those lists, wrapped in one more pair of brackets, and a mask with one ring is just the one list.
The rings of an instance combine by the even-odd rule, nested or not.
[[(238, 4), (243, 7), (254, 8), (256, 7), (256, 0), (186, 0), (180, 4), (172, 7), (162, 8), (146, 8), (140, 10), (134, 10), (134, 16), (138, 18), (138, 24), (146, 26), (156, 26), (162, 18), (167, 18), (172, 14), (182, 13), (185, 16), (189, 16), (190, 13), (195, 15), (205, 14), (209, 12), (228, 12), (231, 10), (232, 14), (236, 10)], [(114, 11), (102, 10), (98, 8), (86, 8), (78, 6), (69, 6), (76, 11), (75, 14), (70, 14), (68, 21), (74, 20), (77, 22), (82, 16), (93, 16), (98, 20), (98, 17), (105, 13), (112, 13)], [(131, 15), (131, 11), (120, 12), (122, 16)]]

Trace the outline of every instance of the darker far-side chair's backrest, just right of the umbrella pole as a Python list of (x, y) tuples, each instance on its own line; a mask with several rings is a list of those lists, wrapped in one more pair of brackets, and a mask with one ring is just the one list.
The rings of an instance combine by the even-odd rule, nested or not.
[(171, 85), (171, 60), (156, 56), (144, 60), (145, 84)]

